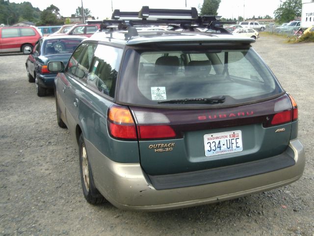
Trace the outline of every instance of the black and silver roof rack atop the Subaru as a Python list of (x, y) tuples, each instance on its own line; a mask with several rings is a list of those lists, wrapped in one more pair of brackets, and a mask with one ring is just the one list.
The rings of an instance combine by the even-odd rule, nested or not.
[[(173, 29), (207, 28), (224, 34), (231, 34), (228, 29), (222, 28), (223, 24), (235, 22), (221, 22), (221, 16), (199, 16), (195, 7), (186, 9), (150, 9), (143, 6), (139, 12), (113, 11), (111, 20), (103, 20), (100, 31), (131, 30), (130, 36), (136, 36), (135, 26), (171, 26)], [(95, 22), (94, 22), (95, 23)], [(97, 22), (100, 23), (100, 22)]]

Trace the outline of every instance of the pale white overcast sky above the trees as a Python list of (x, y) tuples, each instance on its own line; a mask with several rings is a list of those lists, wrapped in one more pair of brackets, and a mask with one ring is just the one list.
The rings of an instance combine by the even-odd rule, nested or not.
[[(21, 3), (29, 1), (33, 7), (40, 10), (46, 9), (51, 4), (60, 9), (61, 16), (69, 17), (75, 14), (81, 0), (10, 0), (10, 2)], [(203, 4), (203, 0), (112, 0), (113, 9), (120, 11), (139, 11), (142, 6), (150, 8), (184, 9), (185, 1), (187, 7), (196, 7)], [(218, 15), (224, 18), (237, 18), (244, 14), (245, 18), (252, 16), (273, 17), (273, 12), (278, 8), (280, 0), (221, 0)], [(244, 6), (244, 7), (243, 7)], [(83, 0), (83, 7), (91, 11), (92, 16), (100, 20), (111, 18), (111, 0)]]

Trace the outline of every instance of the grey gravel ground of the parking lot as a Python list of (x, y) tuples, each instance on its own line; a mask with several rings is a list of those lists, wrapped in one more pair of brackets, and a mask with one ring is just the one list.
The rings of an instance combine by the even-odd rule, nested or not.
[(253, 47), (298, 103), (303, 177), (232, 201), (162, 212), (86, 203), (78, 152), (57, 126), (54, 96), (37, 97), (25, 55), (0, 55), (0, 235), (314, 236), (314, 43), (284, 40), (262, 34)]

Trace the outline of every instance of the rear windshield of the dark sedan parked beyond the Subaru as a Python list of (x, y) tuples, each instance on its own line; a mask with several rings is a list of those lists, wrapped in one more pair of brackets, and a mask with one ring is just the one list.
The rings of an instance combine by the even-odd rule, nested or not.
[(47, 39), (43, 44), (43, 54), (73, 53), (81, 41), (80, 38)]

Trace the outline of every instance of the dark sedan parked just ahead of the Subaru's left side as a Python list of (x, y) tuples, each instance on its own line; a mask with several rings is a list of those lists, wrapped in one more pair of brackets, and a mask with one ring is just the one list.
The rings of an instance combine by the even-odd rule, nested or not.
[(48, 62), (63, 61), (66, 64), (78, 44), (86, 38), (70, 35), (44, 37), (38, 40), (32, 52), (25, 50), (24, 53), (29, 54), (25, 63), (28, 82), (35, 82), (38, 96), (45, 96), (47, 89), (53, 89), (57, 73), (48, 71)]

